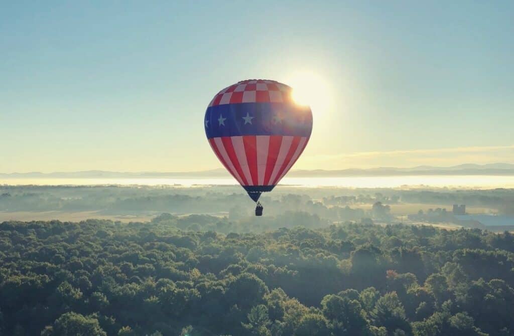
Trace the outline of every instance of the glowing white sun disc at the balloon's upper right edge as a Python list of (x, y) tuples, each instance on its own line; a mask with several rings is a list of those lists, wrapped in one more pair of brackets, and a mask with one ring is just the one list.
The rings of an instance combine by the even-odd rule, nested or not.
[(292, 87), (291, 97), (297, 104), (308, 105), (320, 112), (328, 108), (331, 102), (330, 90), (319, 74), (311, 71), (295, 72), (286, 83)]

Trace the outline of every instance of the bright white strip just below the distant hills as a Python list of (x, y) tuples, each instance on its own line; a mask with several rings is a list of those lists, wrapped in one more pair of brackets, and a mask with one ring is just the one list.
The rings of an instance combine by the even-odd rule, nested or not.
[[(176, 178), (4, 178), (0, 184), (10, 185), (232, 185), (232, 178), (176, 177)], [(363, 177), (285, 177), (281, 185), (303, 187), (345, 188), (400, 188), (432, 186), (435, 188), (494, 189), (514, 188), (514, 176), (492, 175), (412, 175), (412, 176), (363, 176)]]

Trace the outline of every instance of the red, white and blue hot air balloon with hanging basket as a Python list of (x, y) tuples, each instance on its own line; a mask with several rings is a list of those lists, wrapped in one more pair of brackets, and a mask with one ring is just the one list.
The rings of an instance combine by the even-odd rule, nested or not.
[(205, 133), (230, 174), (258, 202), (302, 154), (313, 129), (308, 106), (295, 103), (291, 87), (246, 80), (219, 91), (205, 112)]

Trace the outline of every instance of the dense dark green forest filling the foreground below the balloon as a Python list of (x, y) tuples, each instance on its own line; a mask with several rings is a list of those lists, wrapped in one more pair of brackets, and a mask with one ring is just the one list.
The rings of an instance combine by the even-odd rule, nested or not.
[(261, 219), (5, 221), (0, 333), (514, 334), (508, 232)]

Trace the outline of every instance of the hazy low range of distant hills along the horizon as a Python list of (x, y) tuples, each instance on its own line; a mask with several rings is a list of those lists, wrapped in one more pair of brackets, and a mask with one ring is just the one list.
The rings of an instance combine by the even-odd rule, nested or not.
[[(450, 167), (417, 166), (412, 168), (378, 167), (372, 169), (344, 170), (293, 170), (290, 177), (345, 177), (345, 176), (407, 176), (407, 175), (498, 175), (513, 176), (514, 164), (460, 164)], [(225, 169), (214, 169), (200, 172), (54, 172), (54, 173), (0, 173), (0, 178), (177, 178), (177, 177), (228, 177)]]

